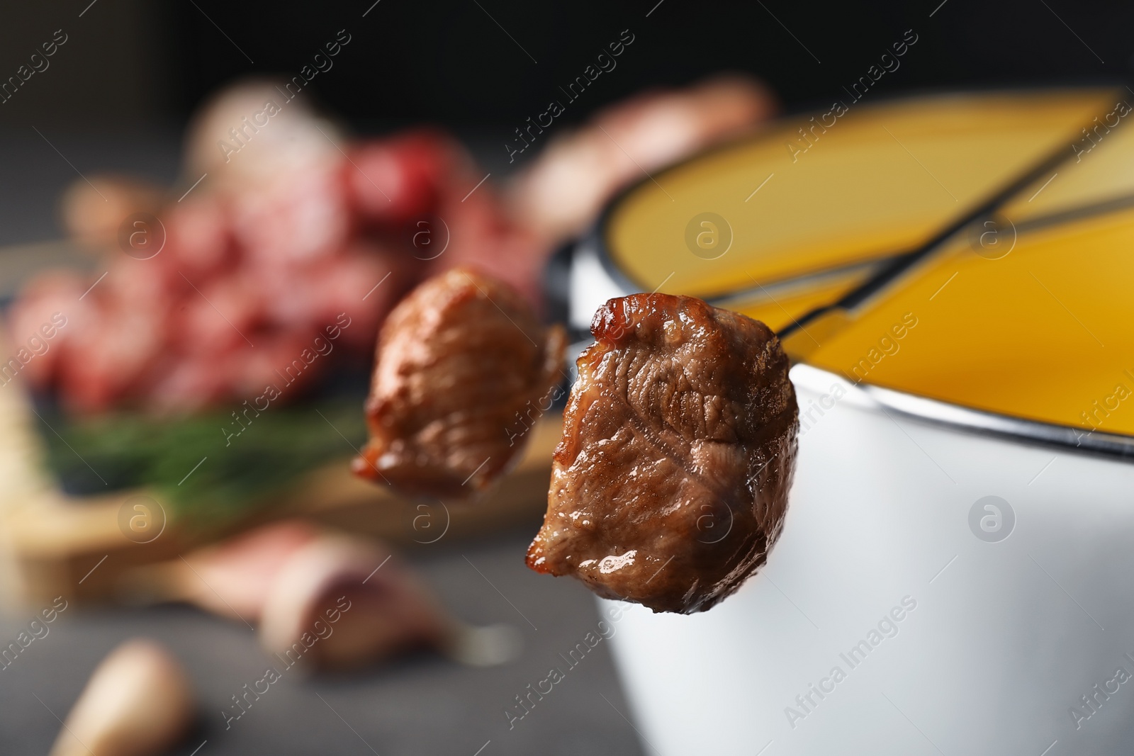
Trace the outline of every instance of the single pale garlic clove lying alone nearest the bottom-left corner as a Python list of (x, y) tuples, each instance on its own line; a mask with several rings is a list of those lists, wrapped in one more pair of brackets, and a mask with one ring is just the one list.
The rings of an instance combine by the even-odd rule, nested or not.
[(95, 669), (50, 756), (161, 754), (181, 738), (193, 712), (180, 664), (152, 640), (127, 640)]

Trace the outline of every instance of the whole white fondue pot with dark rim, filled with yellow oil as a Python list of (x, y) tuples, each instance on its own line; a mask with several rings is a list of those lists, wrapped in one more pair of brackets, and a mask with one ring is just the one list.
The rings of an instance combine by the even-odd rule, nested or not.
[(701, 614), (600, 602), (646, 753), (1128, 750), (1127, 102), (787, 117), (644, 177), (574, 248), (573, 326), (697, 296), (780, 333), (799, 401), (767, 566)]

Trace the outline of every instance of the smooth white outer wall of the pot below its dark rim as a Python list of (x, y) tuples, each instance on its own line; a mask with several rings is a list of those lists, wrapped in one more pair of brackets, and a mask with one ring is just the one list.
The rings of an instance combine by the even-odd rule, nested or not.
[[(646, 753), (1128, 753), (1134, 464), (912, 419), (807, 366), (792, 377), (803, 413), (845, 394), (805, 425), (768, 564), (702, 614), (619, 604), (611, 647)], [(988, 495), (1016, 519), (993, 543), (970, 527)], [(852, 668), (903, 598), (916, 608)]]

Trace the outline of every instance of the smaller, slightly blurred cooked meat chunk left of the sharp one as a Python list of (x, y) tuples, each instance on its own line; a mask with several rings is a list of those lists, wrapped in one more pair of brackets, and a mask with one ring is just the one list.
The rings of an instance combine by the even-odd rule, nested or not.
[(371, 439), (352, 469), (412, 494), (483, 491), (518, 457), (533, 408), (550, 406), (566, 346), (501, 281), (469, 269), (429, 279), (382, 326)]

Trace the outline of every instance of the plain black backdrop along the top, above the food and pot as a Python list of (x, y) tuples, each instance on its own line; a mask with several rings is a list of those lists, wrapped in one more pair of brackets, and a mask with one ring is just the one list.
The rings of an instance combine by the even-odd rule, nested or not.
[(363, 17), (373, 0), (96, 0), (78, 17), (88, 2), (5, 9), (0, 78), (54, 29), (70, 41), (35, 86), (0, 105), (0, 119), (183, 122), (202, 97), (236, 77), (297, 74), (339, 29), (352, 42), (312, 90), (361, 128), (522, 121), (624, 28), (635, 43), (573, 104), (568, 120), (643, 87), (721, 69), (764, 77), (789, 107), (823, 103), (907, 28), (919, 34), (917, 45), (882, 78), (879, 93), (1114, 79), (1129, 73), (1134, 53), (1128, 2), (381, 0)]

